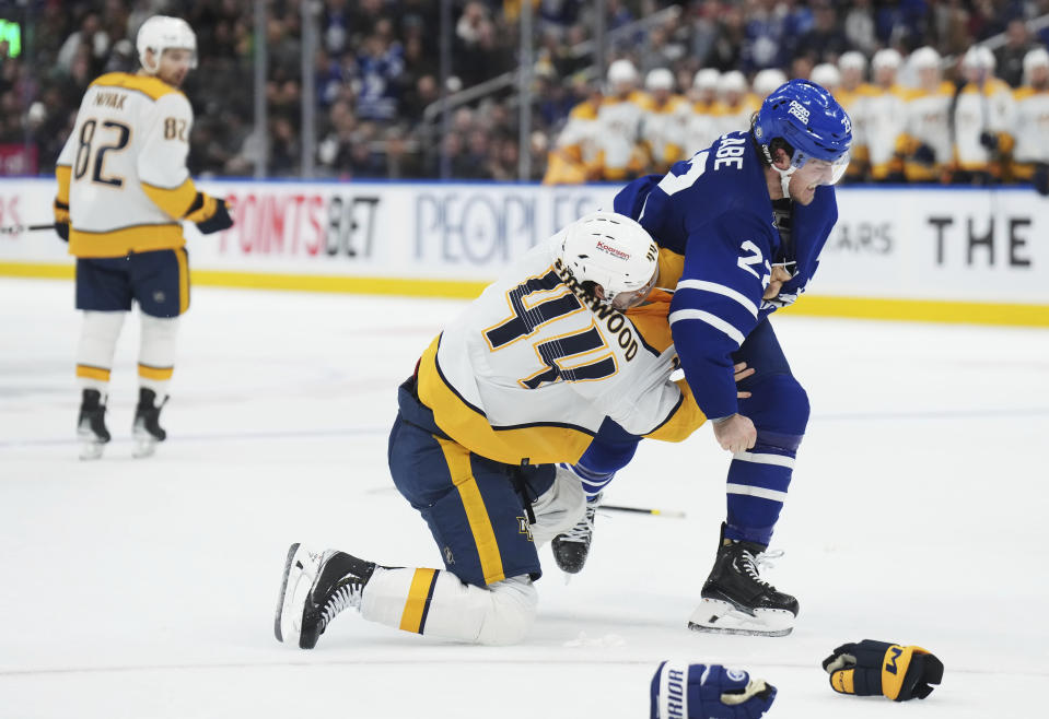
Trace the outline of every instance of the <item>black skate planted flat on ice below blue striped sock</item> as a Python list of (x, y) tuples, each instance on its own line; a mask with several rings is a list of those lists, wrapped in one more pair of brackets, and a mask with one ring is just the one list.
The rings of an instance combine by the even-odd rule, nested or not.
[(718, 634), (750, 634), (767, 637), (786, 636), (794, 628), (797, 600), (777, 591), (761, 579), (758, 567), (768, 556), (756, 542), (724, 539), (707, 584), (700, 592), (702, 601), (689, 617), (688, 628)]

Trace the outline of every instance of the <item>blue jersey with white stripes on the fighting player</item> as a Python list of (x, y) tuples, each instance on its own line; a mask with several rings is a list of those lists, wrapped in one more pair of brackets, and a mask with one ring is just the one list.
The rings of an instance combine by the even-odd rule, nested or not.
[(708, 417), (738, 410), (732, 353), (774, 310), (762, 302), (772, 264), (795, 261), (781, 296), (805, 290), (838, 219), (832, 187), (793, 203), (790, 257), (776, 227), (764, 164), (748, 132), (729, 132), (663, 177), (625, 187), (615, 210), (685, 257), (671, 329), (685, 378)]

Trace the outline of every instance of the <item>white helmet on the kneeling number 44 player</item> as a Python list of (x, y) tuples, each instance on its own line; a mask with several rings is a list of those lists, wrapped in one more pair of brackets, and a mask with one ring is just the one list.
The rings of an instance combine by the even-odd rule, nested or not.
[(630, 217), (592, 212), (564, 228), (558, 259), (576, 282), (601, 285), (602, 304), (627, 309), (644, 299), (656, 281), (660, 250)]

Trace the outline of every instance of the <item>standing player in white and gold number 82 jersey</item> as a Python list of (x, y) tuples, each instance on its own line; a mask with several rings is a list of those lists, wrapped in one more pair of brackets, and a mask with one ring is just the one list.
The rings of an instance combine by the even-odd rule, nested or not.
[(225, 202), (197, 191), (186, 155), (193, 109), (178, 90), (197, 63), (197, 38), (177, 17), (147, 20), (137, 37), (142, 69), (113, 72), (88, 89), (56, 166), (58, 234), (77, 257), (77, 350), (81, 457), (102, 456), (109, 373), (132, 299), (142, 313), (135, 455), (166, 437), (160, 411), (175, 364), (179, 316), (189, 307), (183, 221), (202, 233), (233, 224)]

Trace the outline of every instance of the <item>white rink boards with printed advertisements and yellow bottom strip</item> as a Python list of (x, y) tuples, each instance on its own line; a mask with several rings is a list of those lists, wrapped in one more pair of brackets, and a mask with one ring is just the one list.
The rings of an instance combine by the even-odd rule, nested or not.
[[(618, 186), (201, 181), (237, 224), (187, 224), (198, 285), (471, 297)], [(0, 180), (0, 224), (51, 221), (55, 184)], [(1049, 326), (1049, 199), (1029, 189), (842, 188), (792, 314)], [(50, 232), (0, 234), (0, 274), (71, 278)]]

